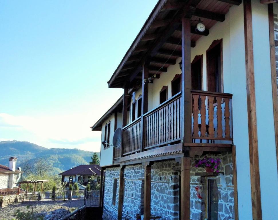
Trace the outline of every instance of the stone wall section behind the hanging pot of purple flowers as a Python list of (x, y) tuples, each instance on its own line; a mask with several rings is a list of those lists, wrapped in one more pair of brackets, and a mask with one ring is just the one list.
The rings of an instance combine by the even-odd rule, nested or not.
[[(214, 158), (220, 158), (220, 172), (216, 176), (208, 176), (204, 168), (195, 167), (195, 161), (204, 156), (195, 156), (191, 158), (190, 170), (190, 219), (204, 220), (207, 218), (207, 178), (216, 177), (218, 187), (218, 220), (234, 220), (234, 186), (232, 170), (232, 154), (222, 153), (218, 155), (207, 155)], [(195, 187), (202, 187), (201, 197), (197, 197)]]

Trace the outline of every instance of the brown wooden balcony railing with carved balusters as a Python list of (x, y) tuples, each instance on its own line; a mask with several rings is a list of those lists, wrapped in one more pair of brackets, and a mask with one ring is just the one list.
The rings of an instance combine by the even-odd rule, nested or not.
[[(192, 129), (192, 143), (232, 144), (232, 94), (192, 90), (191, 95), (192, 124), (185, 129)], [(122, 149), (114, 150), (114, 159), (181, 143), (181, 104), (180, 92), (123, 127)]]

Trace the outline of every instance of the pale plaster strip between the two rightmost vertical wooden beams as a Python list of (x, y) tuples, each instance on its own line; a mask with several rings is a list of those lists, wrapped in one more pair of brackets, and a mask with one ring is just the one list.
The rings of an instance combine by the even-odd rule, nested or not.
[[(274, 13), (277, 12), (275, 7)], [(252, 24), (262, 214), (263, 219), (278, 219), (278, 177), (267, 5), (252, 1)]]

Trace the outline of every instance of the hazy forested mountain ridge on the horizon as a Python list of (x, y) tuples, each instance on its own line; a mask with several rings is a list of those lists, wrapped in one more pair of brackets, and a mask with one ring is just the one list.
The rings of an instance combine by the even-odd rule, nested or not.
[(42, 146), (22, 141), (1, 141), (0, 142), (0, 164), (9, 166), (8, 158), (17, 157), (17, 167), (23, 160), (36, 160), (44, 158), (53, 166), (52, 174), (59, 174), (80, 164), (88, 164), (94, 152), (67, 149), (67, 148), (44, 148)]

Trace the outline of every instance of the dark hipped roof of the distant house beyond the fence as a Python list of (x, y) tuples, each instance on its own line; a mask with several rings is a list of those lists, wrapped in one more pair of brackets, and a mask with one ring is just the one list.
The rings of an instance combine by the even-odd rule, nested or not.
[(69, 170), (66, 170), (59, 175), (66, 176), (66, 175), (97, 175), (100, 176), (100, 166), (98, 164), (92, 165), (79, 165)]

